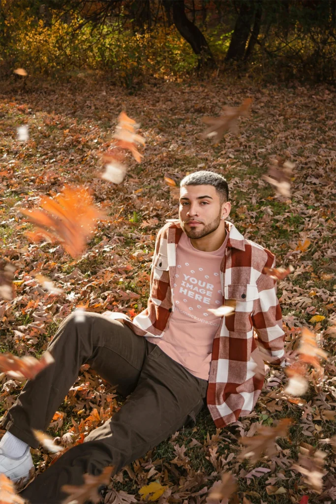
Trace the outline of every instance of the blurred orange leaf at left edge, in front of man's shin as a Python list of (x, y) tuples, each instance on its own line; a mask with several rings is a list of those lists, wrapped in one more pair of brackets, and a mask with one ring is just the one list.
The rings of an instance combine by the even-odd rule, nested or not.
[(54, 362), (52, 355), (46, 351), (40, 358), (17, 357), (11, 353), (0, 354), (0, 369), (16, 380), (32, 380), (45, 367)]

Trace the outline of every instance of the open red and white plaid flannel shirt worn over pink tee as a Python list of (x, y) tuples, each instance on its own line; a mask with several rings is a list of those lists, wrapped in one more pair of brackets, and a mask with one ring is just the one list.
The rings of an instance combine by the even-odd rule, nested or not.
[[(265, 266), (275, 266), (275, 256), (245, 239), (229, 221), (225, 221), (225, 226), (229, 238), (220, 267), (223, 304), (234, 299), (236, 309), (222, 319), (213, 343), (207, 404), (217, 427), (235, 422), (253, 410), (264, 381), (254, 370), (256, 362), (260, 362), (258, 346), (268, 362), (281, 364), (284, 360), (285, 333), (276, 282), (262, 273)], [(174, 310), (176, 247), (182, 233), (179, 220), (175, 219), (159, 230), (148, 306), (133, 322), (123, 317), (125, 324), (140, 336), (160, 338), (168, 329)]]

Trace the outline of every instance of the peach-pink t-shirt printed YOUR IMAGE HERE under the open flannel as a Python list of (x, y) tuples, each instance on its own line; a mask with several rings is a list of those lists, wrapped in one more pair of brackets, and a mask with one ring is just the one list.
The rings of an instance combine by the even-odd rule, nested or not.
[(161, 338), (147, 337), (190, 373), (209, 380), (214, 336), (221, 318), (208, 308), (222, 305), (220, 266), (229, 234), (218, 250), (194, 248), (182, 233), (176, 248), (174, 311)]

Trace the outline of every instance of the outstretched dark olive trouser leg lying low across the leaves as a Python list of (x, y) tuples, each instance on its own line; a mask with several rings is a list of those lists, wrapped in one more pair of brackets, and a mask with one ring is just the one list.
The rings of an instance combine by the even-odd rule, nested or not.
[(146, 357), (135, 391), (120, 410), (86, 442), (65, 452), (22, 496), (31, 504), (60, 504), (64, 484), (81, 485), (83, 474), (114, 472), (157, 446), (185, 425), (204, 405), (208, 382), (190, 374), (155, 346)]

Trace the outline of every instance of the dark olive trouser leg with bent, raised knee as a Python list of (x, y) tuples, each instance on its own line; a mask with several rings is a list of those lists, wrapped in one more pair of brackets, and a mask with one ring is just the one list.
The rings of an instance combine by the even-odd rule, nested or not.
[(74, 314), (60, 325), (48, 350), (55, 359), (34, 380), (26, 383), (8, 411), (4, 426), (33, 448), (39, 443), (31, 429), (46, 430), (59, 404), (89, 363), (122, 395), (136, 387), (144, 359), (155, 345), (127, 326), (100, 314), (87, 312), (84, 322)]

